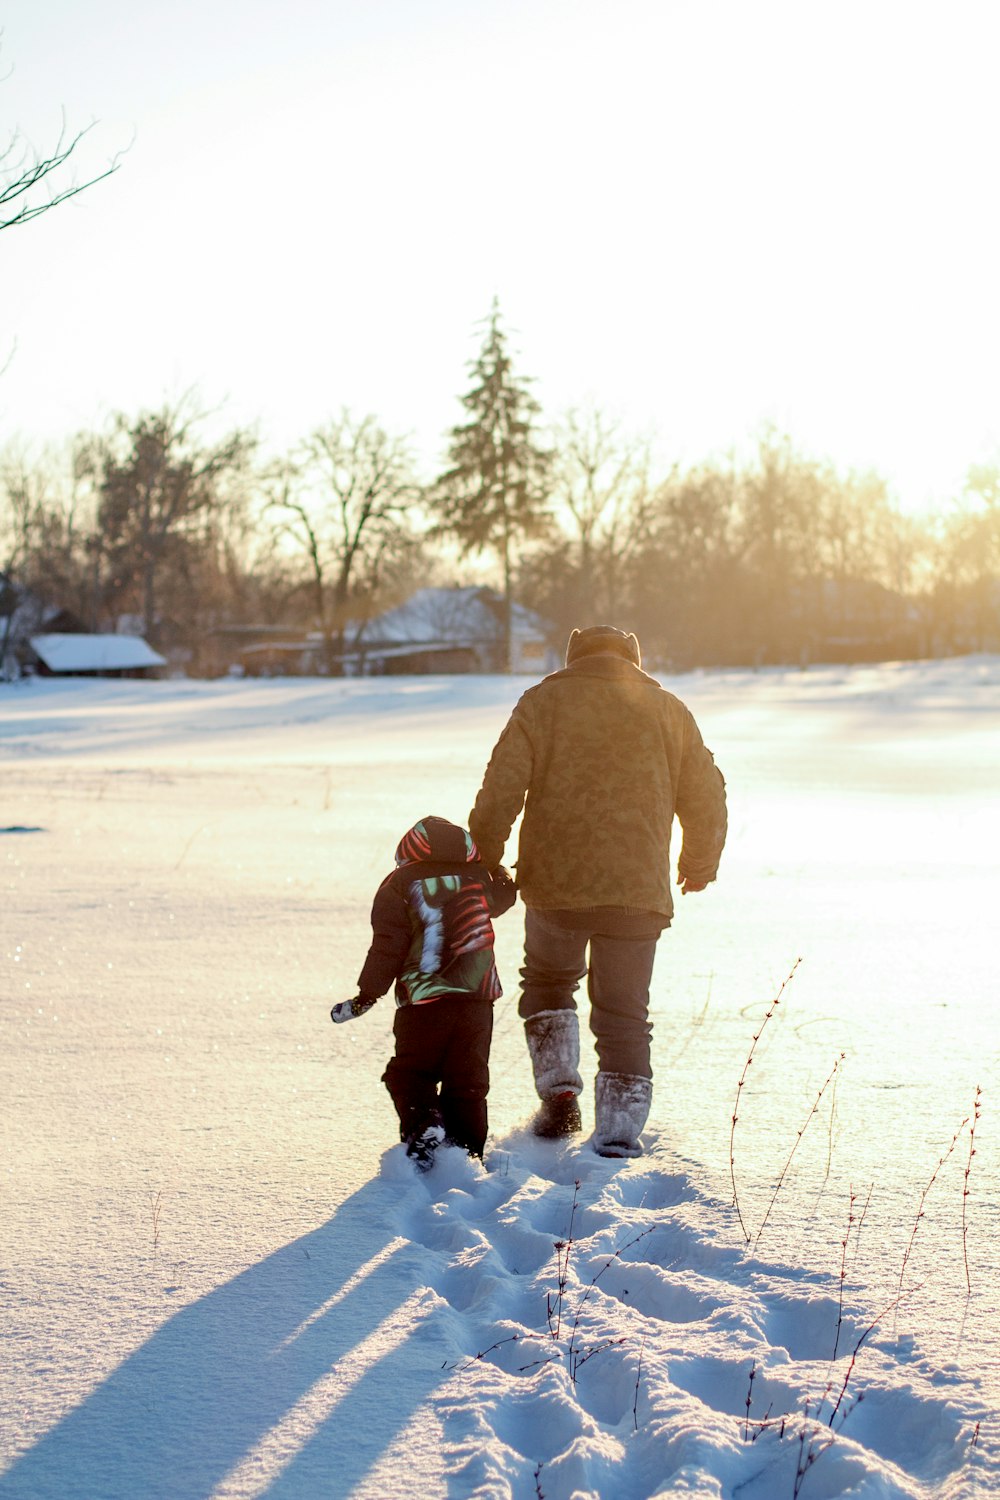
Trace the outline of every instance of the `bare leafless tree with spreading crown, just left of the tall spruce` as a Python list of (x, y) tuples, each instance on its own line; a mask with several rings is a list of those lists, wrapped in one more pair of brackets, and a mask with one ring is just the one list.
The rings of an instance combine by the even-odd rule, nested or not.
[(327, 669), (343, 656), (349, 621), (370, 616), (412, 560), (409, 514), (420, 498), (408, 446), (372, 416), (343, 410), (318, 428), (271, 483), (280, 531), (306, 558)]

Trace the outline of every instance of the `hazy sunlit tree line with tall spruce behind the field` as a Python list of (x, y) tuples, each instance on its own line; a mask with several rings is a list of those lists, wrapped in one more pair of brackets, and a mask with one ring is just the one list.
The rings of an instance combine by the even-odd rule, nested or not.
[(771, 429), (748, 456), (663, 472), (597, 410), (544, 422), (496, 303), (460, 405), (432, 477), (406, 438), (349, 410), (268, 462), (247, 429), (207, 441), (192, 399), (120, 414), (60, 454), (9, 444), (0, 646), (33, 604), (135, 628), (193, 672), (213, 630), (313, 632), (337, 672), (366, 621), (481, 556), (508, 640), (517, 602), (553, 645), (612, 621), (661, 668), (1000, 648), (997, 466), (924, 519), (879, 476)]

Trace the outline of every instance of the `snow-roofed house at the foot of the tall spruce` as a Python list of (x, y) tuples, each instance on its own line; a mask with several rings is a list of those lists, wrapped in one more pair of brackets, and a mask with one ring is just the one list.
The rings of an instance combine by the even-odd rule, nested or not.
[[(552, 627), (511, 604), (511, 672), (541, 676), (559, 656)], [(504, 672), (504, 597), (492, 588), (421, 588), (405, 604), (349, 632), (345, 672)]]

